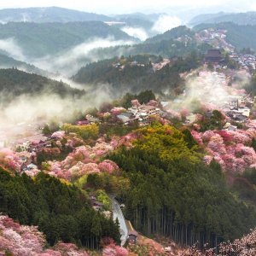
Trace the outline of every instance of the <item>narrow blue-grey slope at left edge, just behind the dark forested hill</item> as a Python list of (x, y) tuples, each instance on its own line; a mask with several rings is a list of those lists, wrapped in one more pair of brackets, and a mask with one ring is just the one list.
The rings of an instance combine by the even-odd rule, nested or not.
[(24, 70), (27, 73), (37, 73), (42, 76), (49, 75), (48, 72), (38, 67), (35, 67), (34, 65), (28, 64), (23, 61), (17, 61), (14, 58), (11, 58), (7, 55), (0, 54), (0, 68), (12, 68), (12, 67), (18, 68), (20, 70)]

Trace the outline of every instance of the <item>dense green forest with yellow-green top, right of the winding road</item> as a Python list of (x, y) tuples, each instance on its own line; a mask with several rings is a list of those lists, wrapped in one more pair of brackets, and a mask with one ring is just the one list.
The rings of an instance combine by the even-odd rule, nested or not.
[(255, 206), (236, 200), (216, 162), (201, 162), (202, 152), (188, 130), (157, 125), (137, 135), (134, 148), (108, 156), (130, 179), (119, 200), (137, 230), (182, 245), (199, 241), (201, 247), (205, 242), (216, 247), (254, 226)]

